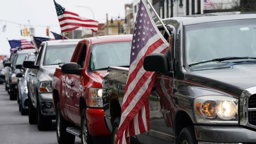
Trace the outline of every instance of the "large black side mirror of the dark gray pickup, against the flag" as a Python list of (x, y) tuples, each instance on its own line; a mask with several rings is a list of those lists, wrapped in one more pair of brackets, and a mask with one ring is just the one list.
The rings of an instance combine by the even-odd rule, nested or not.
[(149, 54), (145, 57), (143, 68), (151, 72), (169, 72), (170, 66), (164, 54)]

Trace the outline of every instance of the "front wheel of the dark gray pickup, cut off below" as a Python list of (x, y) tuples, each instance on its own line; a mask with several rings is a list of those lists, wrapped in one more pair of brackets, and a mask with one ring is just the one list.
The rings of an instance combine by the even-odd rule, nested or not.
[(178, 138), (178, 144), (197, 144), (197, 138), (195, 137), (195, 131), (192, 126), (184, 127), (180, 132)]

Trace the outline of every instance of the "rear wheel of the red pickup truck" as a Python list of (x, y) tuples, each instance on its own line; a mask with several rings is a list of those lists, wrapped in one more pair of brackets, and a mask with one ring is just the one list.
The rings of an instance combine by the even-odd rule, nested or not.
[(56, 133), (57, 140), (59, 144), (74, 144), (75, 136), (66, 131), (67, 127), (71, 126), (69, 122), (67, 122), (62, 114), (59, 102), (57, 103), (57, 111), (56, 111)]

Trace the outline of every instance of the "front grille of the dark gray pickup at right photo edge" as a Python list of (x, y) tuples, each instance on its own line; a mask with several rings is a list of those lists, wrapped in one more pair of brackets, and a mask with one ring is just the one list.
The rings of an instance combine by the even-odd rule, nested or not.
[(249, 98), (248, 103), (248, 120), (249, 124), (256, 126), (256, 95)]

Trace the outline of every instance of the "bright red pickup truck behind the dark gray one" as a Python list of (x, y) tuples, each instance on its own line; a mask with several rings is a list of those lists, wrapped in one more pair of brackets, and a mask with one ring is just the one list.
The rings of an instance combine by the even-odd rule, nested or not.
[(102, 78), (109, 66), (129, 65), (132, 35), (86, 38), (78, 42), (70, 63), (56, 68), (52, 96), (59, 144), (82, 144), (110, 137), (104, 124)]

